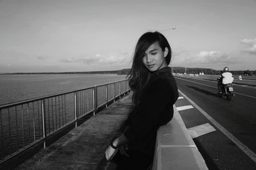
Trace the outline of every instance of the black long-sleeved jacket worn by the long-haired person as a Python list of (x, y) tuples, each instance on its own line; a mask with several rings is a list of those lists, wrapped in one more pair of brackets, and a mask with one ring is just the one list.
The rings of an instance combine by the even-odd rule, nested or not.
[(140, 105), (128, 116), (124, 135), (129, 149), (154, 155), (157, 129), (172, 120), (173, 104), (179, 97), (171, 68), (166, 66), (152, 73)]

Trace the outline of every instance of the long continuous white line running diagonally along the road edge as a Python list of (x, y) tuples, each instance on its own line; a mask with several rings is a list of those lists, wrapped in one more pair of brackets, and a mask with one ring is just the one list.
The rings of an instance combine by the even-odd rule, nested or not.
[[(179, 89), (178, 89), (179, 90)], [(184, 95), (184, 93), (182, 93), (179, 90), (179, 93), (182, 94), (182, 96), (184, 98), (186, 98), (196, 109), (198, 109), (198, 111), (200, 111), (205, 118), (207, 118), (207, 120), (211, 121), (211, 123), (217, 127), (224, 135), (226, 135), (228, 137), (228, 139), (230, 139), (234, 144), (236, 144), (248, 157), (250, 157), (253, 162), (256, 163), (256, 153), (254, 153), (252, 150), (250, 150), (246, 145), (244, 145), (243, 143), (241, 143), (241, 141), (239, 141), (236, 137), (234, 137), (234, 135), (232, 135), (230, 132), (228, 132), (227, 129), (225, 129), (224, 127), (222, 127), (220, 125), (220, 123), (218, 123), (216, 120), (214, 120), (209, 114), (207, 114), (207, 112), (205, 112), (203, 109), (201, 109), (201, 107), (199, 107), (198, 105), (195, 104), (195, 102), (193, 102), (190, 98), (188, 98), (186, 95)]]

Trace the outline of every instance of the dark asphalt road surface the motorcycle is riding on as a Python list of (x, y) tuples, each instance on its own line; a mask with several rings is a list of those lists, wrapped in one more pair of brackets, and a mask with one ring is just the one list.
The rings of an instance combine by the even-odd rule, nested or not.
[(215, 81), (175, 79), (184, 97), (175, 106), (193, 106), (179, 111), (186, 127), (216, 129), (193, 139), (209, 169), (256, 169), (256, 87), (234, 84), (236, 97), (228, 101), (217, 97)]

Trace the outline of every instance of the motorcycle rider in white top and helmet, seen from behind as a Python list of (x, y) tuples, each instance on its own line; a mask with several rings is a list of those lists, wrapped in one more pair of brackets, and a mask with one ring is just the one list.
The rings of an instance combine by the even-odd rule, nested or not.
[(218, 78), (218, 90), (219, 93), (222, 93), (222, 88), (225, 84), (232, 83), (234, 81), (234, 77), (232, 73), (229, 72), (227, 66), (223, 68), (223, 73), (221, 73), (220, 77)]

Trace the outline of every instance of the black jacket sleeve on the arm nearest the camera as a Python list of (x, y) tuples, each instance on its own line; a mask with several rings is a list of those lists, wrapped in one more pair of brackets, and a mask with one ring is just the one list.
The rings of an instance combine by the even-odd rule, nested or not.
[[(145, 139), (152, 129), (159, 125), (159, 118), (164, 112), (164, 107), (172, 106), (172, 98), (175, 97), (175, 90), (166, 81), (156, 81), (152, 84), (151, 90), (147, 91), (141, 101), (138, 114), (132, 125), (125, 130), (124, 135), (129, 141)], [(166, 114), (166, 113), (165, 113)], [(170, 114), (168, 112), (168, 114)]]

